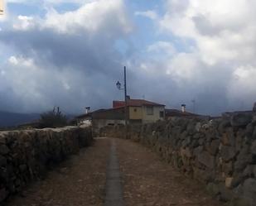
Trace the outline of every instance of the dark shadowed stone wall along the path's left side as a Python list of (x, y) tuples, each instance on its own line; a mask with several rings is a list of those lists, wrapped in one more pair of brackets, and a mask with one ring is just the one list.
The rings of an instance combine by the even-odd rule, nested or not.
[(0, 204), (92, 141), (90, 129), (80, 127), (0, 132)]

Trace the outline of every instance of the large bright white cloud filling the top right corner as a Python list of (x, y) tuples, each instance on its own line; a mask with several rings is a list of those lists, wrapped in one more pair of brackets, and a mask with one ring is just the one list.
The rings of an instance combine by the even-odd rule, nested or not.
[[(246, 62), (248, 55), (256, 55), (255, 2), (168, 2), (170, 11), (168, 10), (159, 22), (162, 30), (196, 41), (196, 46), (206, 63), (213, 65), (222, 60)], [(181, 2), (186, 2), (186, 5), (182, 5)]]

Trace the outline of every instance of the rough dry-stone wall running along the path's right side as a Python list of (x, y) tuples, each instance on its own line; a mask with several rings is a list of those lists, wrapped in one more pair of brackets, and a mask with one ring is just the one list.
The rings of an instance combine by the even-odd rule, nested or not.
[[(102, 136), (125, 137), (124, 127), (105, 127)], [(172, 118), (128, 126), (128, 139), (152, 148), (186, 176), (205, 184), (230, 205), (256, 203), (256, 119), (253, 113), (225, 114), (205, 122)]]

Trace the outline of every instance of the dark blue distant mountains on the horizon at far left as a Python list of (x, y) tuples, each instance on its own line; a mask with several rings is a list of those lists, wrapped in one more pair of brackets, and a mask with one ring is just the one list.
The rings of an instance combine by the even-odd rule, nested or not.
[(15, 127), (39, 119), (39, 113), (8, 113), (0, 111), (0, 127)]

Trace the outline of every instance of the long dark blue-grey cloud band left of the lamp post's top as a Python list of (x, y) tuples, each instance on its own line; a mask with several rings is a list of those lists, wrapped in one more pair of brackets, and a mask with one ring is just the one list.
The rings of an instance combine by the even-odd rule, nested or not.
[(0, 41), (15, 46), (18, 53), (32, 57), (38, 65), (55, 66), (56, 69), (72, 67), (87, 75), (104, 73), (113, 75), (119, 68), (121, 55), (114, 50), (114, 40), (96, 36), (89, 40), (86, 34), (70, 36), (49, 29), (32, 31), (4, 31)]

